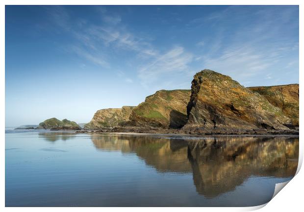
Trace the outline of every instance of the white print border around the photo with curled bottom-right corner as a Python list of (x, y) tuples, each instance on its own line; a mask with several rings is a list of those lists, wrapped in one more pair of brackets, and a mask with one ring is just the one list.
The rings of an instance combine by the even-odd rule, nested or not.
[[(204, 4), (204, 5), (235, 5), (235, 4), (242, 4), (242, 5), (254, 5), (254, 4), (261, 4), (261, 5), (300, 5), (300, 55), (299, 58), (303, 59), (303, 42), (301, 42), (301, 38), (303, 38), (303, 14), (304, 14), (304, 1), (302, 0), (1, 0), (1, 9), (0, 9), (0, 23), (1, 23), (1, 34), (0, 34), (0, 42), (1, 42), (1, 51), (0, 51), (0, 95), (1, 95), (1, 104), (0, 104), (0, 114), (1, 114), (1, 120), (0, 120), (0, 128), (1, 131), (1, 169), (0, 169), (0, 187), (1, 187), (1, 207), (4, 207), (5, 202), (5, 184), (4, 184), (4, 159), (5, 159), (5, 135), (4, 135), (4, 128), (5, 128), (5, 4), (44, 4), (44, 5), (52, 5), (52, 4), (59, 4), (59, 5), (68, 5), (68, 4), (78, 4), (78, 5), (112, 5), (112, 4), (122, 4), (122, 5), (152, 5), (152, 4), (158, 4), (158, 5), (198, 5), (198, 4)], [(300, 59), (300, 70), (303, 70), (303, 62)], [(303, 74), (300, 71), (299, 72), (300, 77), (300, 85), (302, 85), (302, 79)], [(300, 94), (303, 93), (302, 86), (300, 86)], [(300, 97), (300, 122), (302, 123), (303, 116), (302, 116), (302, 106), (303, 106), (303, 100)], [(302, 125), (301, 125), (302, 126)], [(302, 127), (300, 126), (300, 132), (302, 132)], [(192, 210), (192, 211), (253, 211), (260, 209), (261, 211), (302, 211), (303, 209), (303, 198), (302, 198), (302, 189), (303, 189), (303, 179), (304, 174), (303, 170), (300, 170), (300, 167), (303, 163), (303, 145), (301, 141), (301, 134), (300, 134), (300, 155), (299, 155), (299, 166), (297, 170), (297, 175), (292, 179), (288, 186), (283, 188), (283, 192), (279, 192), (273, 200), (271, 200), (266, 207), (265, 205), (262, 206), (256, 206), (256, 207), (247, 207), (247, 208), (174, 208), (175, 211), (185, 211), (185, 210)], [(300, 171), (299, 171), (300, 170)], [(22, 211), (30, 211), (30, 212), (40, 212), (43, 211), (69, 211), (73, 210), (76, 212), (79, 211), (109, 211), (114, 212), (117, 210), (124, 210), (129, 212), (142, 212), (142, 210), (145, 211), (154, 211), (155, 208), (4, 208), (5, 211), (16, 211), (16, 210), (22, 210)], [(168, 208), (157, 208), (156, 210), (169, 210)]]

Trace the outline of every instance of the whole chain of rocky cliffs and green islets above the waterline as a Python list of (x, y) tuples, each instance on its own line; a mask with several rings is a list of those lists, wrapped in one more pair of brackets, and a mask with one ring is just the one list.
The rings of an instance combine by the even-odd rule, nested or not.
[(36, 129), (201, 135), (299, 134), (299, 84), (249, 87), (203, 70), (191, 90), (160, 90), (138, 106), (98, 110), (84, 129), (47, 119)]

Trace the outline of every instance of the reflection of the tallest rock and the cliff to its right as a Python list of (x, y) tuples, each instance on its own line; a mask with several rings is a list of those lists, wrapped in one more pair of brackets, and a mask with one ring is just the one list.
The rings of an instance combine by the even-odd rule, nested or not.
[(297, 139), (219, 137), (188, 144), (194, 184), (206, 197), (233, 190), (252, 175), (291, 177), (298, 154)]

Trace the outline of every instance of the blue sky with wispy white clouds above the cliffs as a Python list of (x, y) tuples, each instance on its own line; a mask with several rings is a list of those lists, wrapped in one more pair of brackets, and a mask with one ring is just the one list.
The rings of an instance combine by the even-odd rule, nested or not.
[(5, 6), (5, 126), (86, 123), (203, 69), (299, 83), (299, 7)]

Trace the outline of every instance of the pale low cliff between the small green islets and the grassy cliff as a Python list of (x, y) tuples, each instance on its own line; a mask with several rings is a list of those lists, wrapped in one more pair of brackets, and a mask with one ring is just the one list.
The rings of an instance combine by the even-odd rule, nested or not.
[(84, 129), (111, 128), (128, 121), (133, 106), (98, 110), (92, 120), (84, 125)]

